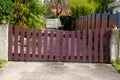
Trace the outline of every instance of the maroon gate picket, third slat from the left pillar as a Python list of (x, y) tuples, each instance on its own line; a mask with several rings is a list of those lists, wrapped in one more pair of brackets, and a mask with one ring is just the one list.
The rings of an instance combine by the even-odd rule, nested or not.
[(20, 30), (20, 60), (24, 60), (24, 28)]

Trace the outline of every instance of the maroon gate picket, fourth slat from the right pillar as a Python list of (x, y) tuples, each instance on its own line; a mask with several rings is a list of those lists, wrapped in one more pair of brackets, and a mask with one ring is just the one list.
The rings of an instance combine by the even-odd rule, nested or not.
[(88, 62), (92, 62), (92, 30), (88, 30)]

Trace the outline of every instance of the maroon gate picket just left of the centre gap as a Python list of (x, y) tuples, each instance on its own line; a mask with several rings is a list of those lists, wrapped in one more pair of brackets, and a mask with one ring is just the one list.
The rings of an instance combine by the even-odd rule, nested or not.
[(56, 31), (56, 57), (55, 60), (60, 60), (60, 31)]

